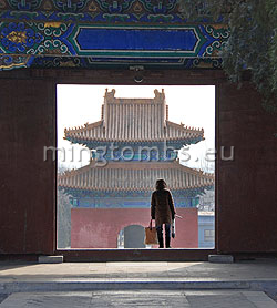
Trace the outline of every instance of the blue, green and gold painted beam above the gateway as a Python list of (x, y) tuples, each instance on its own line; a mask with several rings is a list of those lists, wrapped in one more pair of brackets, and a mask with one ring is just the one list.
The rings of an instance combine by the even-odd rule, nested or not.
[(175, 0), (0, 0), (0, 69), (134, 62), (219, 68), (228, 29), (187, 24), (176, 7)]

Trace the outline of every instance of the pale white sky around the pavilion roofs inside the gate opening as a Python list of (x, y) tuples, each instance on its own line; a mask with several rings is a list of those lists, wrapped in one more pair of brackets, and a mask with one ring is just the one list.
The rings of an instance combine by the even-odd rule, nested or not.
[[(72, 161), (72, 146), (63, 140), (64, 127), (83, 125), (101, 120), (101, 105), (105, 89), (115, 89), (115, 97), (154, 97), (154, 90), (165, 91), (168, 105), (168, 120), (185, 125), (204, 129), (205, 141), (189, 146), (186, 151), (191, 155), (188, 162), (179, 156), (181, 162), (195, 168), (213, 168), (213, 163), (207, 163), (205, 152), (215, 147), (215, 86), (213, 85), (58, 85), (57, 112), (58, 112), (58, 147), (65, 148), (66, 167), (80, 167), (89, 163), (89, 156), (83, 154), (80, 162), (78, 148), (74, 146), (74, 161)], [(63, 155), (58, 157), (63, 160)], [(197, 158), (199, 158), (197, 161)], [(197, 162), (196, 162), (197, 161)]]

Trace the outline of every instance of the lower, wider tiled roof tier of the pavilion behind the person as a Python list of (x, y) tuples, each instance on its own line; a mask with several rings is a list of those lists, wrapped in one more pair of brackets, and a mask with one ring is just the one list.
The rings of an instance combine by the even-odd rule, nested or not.
[(153, 191), (157, 178), (170, 189), (189, 189), (214, 185), (214, 176), (175, 162), (110, 162), (104, 167), (95, 161), (79, 170), (58, 175), (58, 186), (88, 191)]

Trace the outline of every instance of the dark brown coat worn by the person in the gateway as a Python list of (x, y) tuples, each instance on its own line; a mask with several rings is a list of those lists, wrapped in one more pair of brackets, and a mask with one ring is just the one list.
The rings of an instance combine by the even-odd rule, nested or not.
[(175, 216), (172, 193), (168, 189), (155, 191), (151, 196), (151, 217), (155, 225), (172, 224)]

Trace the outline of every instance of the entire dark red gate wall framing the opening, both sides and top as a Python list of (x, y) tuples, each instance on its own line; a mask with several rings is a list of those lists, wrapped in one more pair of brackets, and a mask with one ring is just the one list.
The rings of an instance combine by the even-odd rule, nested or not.
[[(0, 72), (0, 254), (55, 248), (55, 164), (43, 162), (43, 146), (55, 145), (55, 82), (135, 84), (132, 74)], [(235, 146), (235, 161), (217, 160), (217, 250), (277, 253), (276, 117), (265, 113), (256, 91), (208, 70), (150, 70), (144, 84), (217, 84), (217, 144)]]

